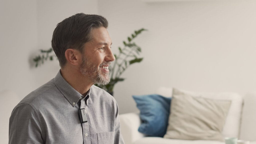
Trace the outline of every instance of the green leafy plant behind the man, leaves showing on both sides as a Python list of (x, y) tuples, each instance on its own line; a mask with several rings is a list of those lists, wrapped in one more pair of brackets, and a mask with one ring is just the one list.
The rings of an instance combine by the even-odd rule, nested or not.
[[(115, 61), (112, 66), (109, 66), (110, 71), (110, 83), (107, 85), (100, 85), (95, 84), (96, 86), (108, 91), (109, 93), (113, 94), (113, 88), (116, 83), (119, 81), (124, 81), (124, 78), (121, 78), (120, 76), (123, 74), (123, 72), (132, 64), (140, 63), (143, 58), (139, 58), (138, 55), (141, 53), (141, 48), (137, 46), (133, 40), (141, 34), (146, 29), (141, 28), (139, 30), (135, 30), (134, 33), (131, 34), (131, 36), (127, 37), (127, 41), (123, 41), (124, 46), (118, 47), (119, 54), (115, 56)], [(48, 50), (41, 50), (41, 55), (36, 56), (33, 60), (36, 63), (36, 67), (41, 63), (43, 64), (45, 60), (53, 60), (53, 57), (56, 57), (56, 55), (50, 55), (52, 52), (52, 48)]]

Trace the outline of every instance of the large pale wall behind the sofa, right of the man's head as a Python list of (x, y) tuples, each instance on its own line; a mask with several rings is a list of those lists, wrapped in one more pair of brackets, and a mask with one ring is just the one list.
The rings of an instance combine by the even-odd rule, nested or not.
[(132, 95), (159, 86), (246, 94), (256, 88), (256, 1), (146, 3), (99, 0), (109, 20), (113, 51), (135, 29), (144, 60), (114, 88), (120, 113), (137, 111)]

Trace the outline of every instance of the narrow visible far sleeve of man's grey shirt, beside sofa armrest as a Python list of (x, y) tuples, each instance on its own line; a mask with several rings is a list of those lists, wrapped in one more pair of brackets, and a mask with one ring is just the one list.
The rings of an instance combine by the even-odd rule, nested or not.
[(119, 108), (116, 103), (116, 114), (115, 114), (115, 140), (114, 144), (124, 144), (124, 139), (121, 134), (120, 119), (119, 119)]

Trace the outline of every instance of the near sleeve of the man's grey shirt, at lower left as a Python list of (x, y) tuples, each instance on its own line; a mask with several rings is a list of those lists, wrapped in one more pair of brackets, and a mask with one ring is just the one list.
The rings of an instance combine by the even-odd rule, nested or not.
[(38, 116), (29, 104), (17, 105), (9, 120), (9, 144), (43, 144)]

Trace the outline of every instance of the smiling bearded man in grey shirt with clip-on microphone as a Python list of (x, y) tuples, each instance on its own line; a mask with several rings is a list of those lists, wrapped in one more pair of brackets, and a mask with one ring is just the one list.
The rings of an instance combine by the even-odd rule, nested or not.
[(9, 144), (124, 143), (115, 99), (93, 85), (110, 81), (107, 27), (104, 17), (83, 13), (57, 25), (52, 48), (61, 69), (14, 108)]

